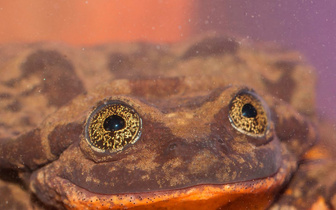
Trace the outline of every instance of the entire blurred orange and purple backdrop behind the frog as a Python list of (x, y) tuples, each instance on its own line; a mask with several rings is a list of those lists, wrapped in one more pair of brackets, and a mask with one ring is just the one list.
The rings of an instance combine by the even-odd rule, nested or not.
[(301, 51), (317, 69), (319, 113), (336, 119), (335, 0), (0, 0), (0, 44), (178, 42), (205, 33)]

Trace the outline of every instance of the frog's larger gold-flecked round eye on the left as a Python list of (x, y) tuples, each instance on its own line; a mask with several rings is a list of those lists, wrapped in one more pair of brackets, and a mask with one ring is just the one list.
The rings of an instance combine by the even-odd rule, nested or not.
[(141, 135), (139, 114), (121, 101), (105, 101), (89, 116), (85, 137), (98, 152), (117, 152), (134, 144)]

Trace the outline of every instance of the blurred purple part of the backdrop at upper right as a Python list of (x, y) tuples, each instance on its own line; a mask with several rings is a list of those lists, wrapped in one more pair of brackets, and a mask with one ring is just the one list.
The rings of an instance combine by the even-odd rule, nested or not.
[(318, 73), (317, 105), (336, 119), (335, 0), (200, 1), (200, 31), (274, 41), (302, 52)]

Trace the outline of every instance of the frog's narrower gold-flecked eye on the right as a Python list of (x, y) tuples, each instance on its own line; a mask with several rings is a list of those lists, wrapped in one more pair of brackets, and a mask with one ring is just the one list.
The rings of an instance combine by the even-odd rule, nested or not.
[(268, 110), (265, 103), (254, 93), (237, 94), (230, 103), (229, 120), (238, 131), (262, 137), (268, 129)]

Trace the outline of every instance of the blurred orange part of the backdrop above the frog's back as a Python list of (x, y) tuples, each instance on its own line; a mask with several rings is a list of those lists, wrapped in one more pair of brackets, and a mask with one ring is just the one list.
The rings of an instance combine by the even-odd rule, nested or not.
[(174, 42), (187, 38), (194, 0), (0, 0), (0, 43)]

